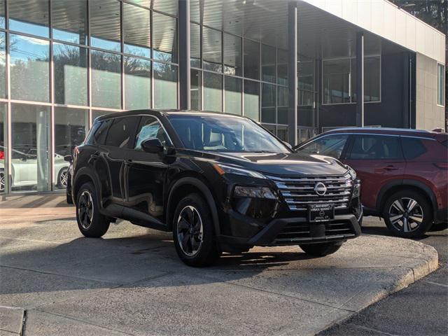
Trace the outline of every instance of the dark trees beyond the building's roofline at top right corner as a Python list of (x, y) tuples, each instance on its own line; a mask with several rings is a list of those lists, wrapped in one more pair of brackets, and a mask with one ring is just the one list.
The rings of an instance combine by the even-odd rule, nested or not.
[[(448, 35), (448, 0), (390, 0), (398, 7)], [(445, 132), (448, 130), (448, 40), (445, 39)]]

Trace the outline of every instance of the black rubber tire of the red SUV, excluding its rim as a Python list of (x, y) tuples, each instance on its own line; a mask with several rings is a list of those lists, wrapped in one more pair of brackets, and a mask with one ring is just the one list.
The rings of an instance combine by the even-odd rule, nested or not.
[[(423, 223), (419, 225), (419, 228), (417, 228), (417, 230), (414, 230), (412, 232), (403, 232), (397, 230), (389, 220), (388, 211), (392, 203), (400, 198), (412, 198), (413, 200), (416, 200), (416, 202), (419, 203), (421, 209), (423, 210)], [(393, 235), (402, 238), (421, 237), (426, 232), (428, 232), (428, 230), (430, 230), (431, 226), (433, 225), (433, 207), (431, 207), (430, 202), (428, 202), (428, 200), (426, 200), (423, 195), (421, 195), (420, 193), (416, 193), (414, 190), (402, 190), (388, 197), (388, 199), (384, 203), (382, 215), (384, 218), (384, 223), (386, 223), (388, 230)]]

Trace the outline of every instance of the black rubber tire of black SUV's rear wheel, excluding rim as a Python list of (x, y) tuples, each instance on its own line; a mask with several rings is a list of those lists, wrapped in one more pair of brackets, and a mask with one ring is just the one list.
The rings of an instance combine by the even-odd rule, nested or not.
[[(93, 203), (93, 217), (92, 222), (89, 226), (89, 228), (85, 229), (80, 224), (80, 218), (79, 218), (79, 198), (80, 195), (83, 194), (83, 192), (87, 190), (90, 195), (92, 195), (92, 203)], [(107, 230), (109, 229), (109, 221), (107, 221), (107, 218), (105, 216), (102, 216), (102, 214), (99, 213), (99, 202), (97, 199), (97, 194), (95, 193), (95, 188), (93, 186), (93, 183), (87, 182), (84, 183), (81, 188), (79, 188), (78, 195), (76, 195), (76, 222), (78, 223), (78, 228), (80, 232), (85, 237), (90, 238), (99, 238), (104, 235)]]

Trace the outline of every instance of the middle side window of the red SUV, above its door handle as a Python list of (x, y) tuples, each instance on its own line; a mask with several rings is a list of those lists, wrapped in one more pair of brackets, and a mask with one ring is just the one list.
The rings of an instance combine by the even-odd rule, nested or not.
[(357, 135), (353, 141), (352, 160), (402, 159), (399, 137)]

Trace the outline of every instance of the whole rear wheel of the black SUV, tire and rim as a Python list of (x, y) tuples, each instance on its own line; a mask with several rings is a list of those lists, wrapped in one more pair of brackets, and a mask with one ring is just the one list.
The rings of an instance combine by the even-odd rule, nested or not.
[(99, 202), (91, 182), (84, 183), (76, 196), (76, 221), (85, 237), (102, 237), (109, 229), (109, 220), (99, 213)]

